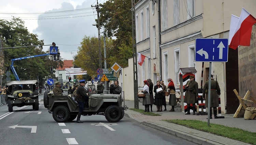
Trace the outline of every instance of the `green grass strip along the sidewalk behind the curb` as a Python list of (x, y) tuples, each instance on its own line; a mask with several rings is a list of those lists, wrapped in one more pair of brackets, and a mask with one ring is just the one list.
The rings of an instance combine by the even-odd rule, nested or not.
[(207, 122), (202, 122), (199, 120), (163, 120), (166, 122), (186, 126), (188, 128), (213, 133), (216, 135), (224, 136), (226, 138), (230, 138), (233, 140), (238, 140), (241, 142), (249, 143), (256, 145), (256, 133), (245, 131), (239, 128), (232, 128), (223, 125), (213, 124), (211, 123), (208, 126)]

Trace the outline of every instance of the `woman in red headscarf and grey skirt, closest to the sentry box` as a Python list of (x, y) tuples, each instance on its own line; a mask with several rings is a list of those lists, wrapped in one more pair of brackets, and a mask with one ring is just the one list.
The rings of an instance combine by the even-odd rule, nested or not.
[(167, 91), (170, 92), (169, 105), (172, 106), (172, 109), (169, 110), (169, 112), (174, 112), (174, 106), (177, 105), (176, 95), (175, 95), (175, 93), (176, 93), (175, 86), (174, 86), (173, 80), (171, 78), (168, 78), (167, 81), (169, 82)]

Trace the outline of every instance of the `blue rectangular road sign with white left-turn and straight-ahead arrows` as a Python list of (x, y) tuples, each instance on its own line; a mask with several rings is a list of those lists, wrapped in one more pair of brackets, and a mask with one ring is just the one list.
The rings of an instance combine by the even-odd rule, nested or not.
[(227, 62), (228, 39), (197, 38), (195, 53), (197, 62)]

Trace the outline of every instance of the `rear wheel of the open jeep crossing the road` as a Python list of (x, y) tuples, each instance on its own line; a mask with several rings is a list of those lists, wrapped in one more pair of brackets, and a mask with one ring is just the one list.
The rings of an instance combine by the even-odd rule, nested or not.
[(70, 118), (70, 111), (66, 106), (57, 106), (53, 109), (53, 119), (56, 122), (66, 122)]

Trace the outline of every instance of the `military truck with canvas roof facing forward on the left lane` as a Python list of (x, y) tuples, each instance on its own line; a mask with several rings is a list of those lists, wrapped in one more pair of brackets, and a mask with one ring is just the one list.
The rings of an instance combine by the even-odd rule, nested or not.
[(35, 88), (37, 80), (30, 81), (7, 81), (6, 99), (8, 102), (8, 111), (13, 111), (13, 106), (23, 107), (32, 105), (34, 110), (39, 110), (38, 92)]

